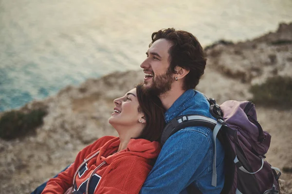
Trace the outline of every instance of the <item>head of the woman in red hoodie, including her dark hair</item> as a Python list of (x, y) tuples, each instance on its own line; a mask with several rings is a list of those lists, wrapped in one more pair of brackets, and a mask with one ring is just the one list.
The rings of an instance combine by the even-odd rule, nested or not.
[(119, 136), (127, 130), (133, 137), (149, 141), (160, 140), (165, 125), (165, 110), (158, 97), (143, 91), (143, 85), (139, 84), (124, 97), (115, 99), (114, 104), (116, 107), (109, 123), (117, 130)]

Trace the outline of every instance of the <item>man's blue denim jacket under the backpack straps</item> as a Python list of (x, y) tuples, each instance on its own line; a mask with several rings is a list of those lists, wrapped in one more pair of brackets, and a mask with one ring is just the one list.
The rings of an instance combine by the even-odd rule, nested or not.
[[(187, 90), (166, 111), (165, 121), (183, 114), (200, 114), (214, 118), (209, 103), (196, 90)], [(224, 150), (217, 145), (217, 187), (211, 185), (213, 165), (212, 130), (188, 127), (179, 130), (164, 144), (140, 194), (186, 194), (194, 184), (203, 194), (219, 194), (224, 184)]]

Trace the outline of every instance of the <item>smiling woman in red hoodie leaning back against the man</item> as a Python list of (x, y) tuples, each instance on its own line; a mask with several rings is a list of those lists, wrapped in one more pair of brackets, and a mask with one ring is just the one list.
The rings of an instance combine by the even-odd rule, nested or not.
[(105, 136), (82, 149), (42, 194), (139, 193), (161, 149), (164, 108), (141, 84), (113, 102), (109, 123), (119, 137)]

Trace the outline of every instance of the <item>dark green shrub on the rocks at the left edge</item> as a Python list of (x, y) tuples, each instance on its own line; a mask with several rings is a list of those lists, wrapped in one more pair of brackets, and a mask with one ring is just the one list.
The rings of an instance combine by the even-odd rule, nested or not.
[(29, 113), (9, 111), (0, 118), (0, 138), (11, 140), (35, 133), (37, 127), (43, 124), (45, 109), (32, 110)]

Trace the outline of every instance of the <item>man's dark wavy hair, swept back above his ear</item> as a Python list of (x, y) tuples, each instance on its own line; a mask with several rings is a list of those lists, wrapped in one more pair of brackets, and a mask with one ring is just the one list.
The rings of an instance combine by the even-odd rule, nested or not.
[(172, 46), (168, 50), (169, 70), (177, 73), (175, 71), (176, 66), (190, 70), (185, 76), (183, 89), (194, 89), (204, 74), (207, 60), (198, 39), (190, 32), (176, 31), (174, 28), (153, 32), (151, 38), (152, 42), (149, 47), (161, 38), (172, 43)]

